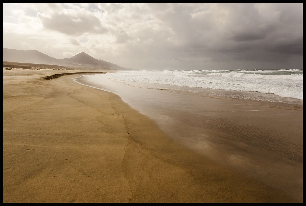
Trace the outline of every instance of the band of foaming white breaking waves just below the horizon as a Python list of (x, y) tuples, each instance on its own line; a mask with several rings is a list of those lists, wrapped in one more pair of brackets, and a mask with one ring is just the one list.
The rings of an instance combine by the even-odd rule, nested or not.
[(113, 80), (273, 93), (303, 99), (303, 70), (175, 70), (107, 73)]

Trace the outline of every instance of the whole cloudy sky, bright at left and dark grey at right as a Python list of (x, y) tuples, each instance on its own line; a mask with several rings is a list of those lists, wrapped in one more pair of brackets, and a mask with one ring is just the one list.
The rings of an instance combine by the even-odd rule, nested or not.
[(144, 70), (303, 69), (303, 3), (2, 3), (3, 47)]

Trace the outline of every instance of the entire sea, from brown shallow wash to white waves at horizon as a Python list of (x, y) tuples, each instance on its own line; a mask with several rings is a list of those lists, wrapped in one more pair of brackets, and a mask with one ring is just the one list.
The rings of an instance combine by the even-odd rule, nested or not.
[(117, 94), (174, 141), (302, 197), (303, 70), (138, 70), (73, 81)]

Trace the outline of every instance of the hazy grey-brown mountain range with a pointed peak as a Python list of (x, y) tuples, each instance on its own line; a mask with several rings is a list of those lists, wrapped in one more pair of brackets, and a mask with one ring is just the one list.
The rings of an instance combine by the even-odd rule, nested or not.
[(17, 49), (3, 48), (3, 61), (6, 62), (20, 62), (20, 63), (34, 63), (34, 64), (50, 64), (67, 67), (86, 67), (95, 69), (117, 69), (117, 70), (133, 70), (125, 68), (111, 62), (103, 61), (102, 59), (95, 59), (85, 52), (76, 54), (71, 58), (56, 59), (43, 54), (37, 50), (22, 51)]

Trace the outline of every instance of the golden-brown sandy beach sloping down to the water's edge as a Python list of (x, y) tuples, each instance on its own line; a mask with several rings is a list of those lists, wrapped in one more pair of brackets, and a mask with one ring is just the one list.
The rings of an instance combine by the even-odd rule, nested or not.
[(63, 71), (3, 70), (3, 202), (297, 202)]

